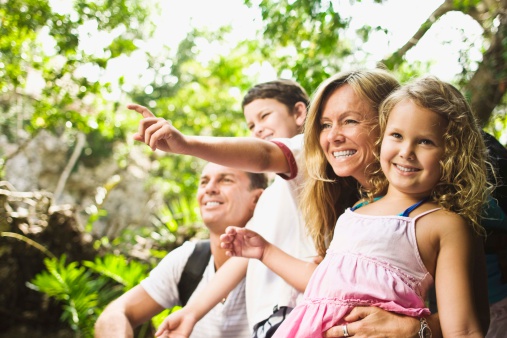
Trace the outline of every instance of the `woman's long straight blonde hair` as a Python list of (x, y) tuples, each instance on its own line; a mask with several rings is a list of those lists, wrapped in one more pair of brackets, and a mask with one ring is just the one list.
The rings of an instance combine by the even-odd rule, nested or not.
[(334, 173), (319, 141), (323, 106), (329, 96), (343, 85), (349, 85), (378, 113), (382, 101), (399, 83), (388, 71), (380, 68), (345, 71), (321, 83), (310, 101), (304, 125), (306, 177), (300, 195), (300, 208), (321, 256), (325, 255), (333, 237), (338, 216), (359, 198), (358, 182), (352, 177), (338, 177)]

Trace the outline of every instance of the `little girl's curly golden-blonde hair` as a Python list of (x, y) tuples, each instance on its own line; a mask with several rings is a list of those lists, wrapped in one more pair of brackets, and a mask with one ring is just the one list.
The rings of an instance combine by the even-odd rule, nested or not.
[[(461, 215), (477, 233), (484, 234), (481, 213), (492, 190), (487, 179), (487, 149), (470, 105), (454, 86), (435, 76), (425, 76), (389, 95), (380, 107), (380, 138), (375, 144), (375, 156), (379, 158), (390, 112), (405, 100), (431, 110), (447, 121), (443, 135), (444, 155), (440, 160), (442, 173), (432, 191), (432, 200), (443, 209)], [(373, 170), (369, 178), (370, 198), (384, 195), (388, 186), (379, 162), (375, 163)]]

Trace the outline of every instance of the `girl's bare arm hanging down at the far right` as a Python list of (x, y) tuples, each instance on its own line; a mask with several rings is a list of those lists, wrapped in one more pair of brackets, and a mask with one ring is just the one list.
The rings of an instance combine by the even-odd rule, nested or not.
[[(461, 217), (445, 213), (438, 238), (435, 289), (444, 337), (484, 337), (489, 326), (484, 250)], [(475, 290), (475, 291), (474, 291)]]

